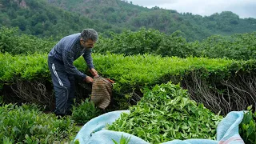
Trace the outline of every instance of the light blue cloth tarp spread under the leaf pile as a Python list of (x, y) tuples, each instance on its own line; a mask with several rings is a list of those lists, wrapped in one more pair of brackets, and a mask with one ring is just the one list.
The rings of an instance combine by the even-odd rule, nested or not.
[[(91, 119), (82, 126), (82, 129), (78, 132), (74, 141), (78, 140), (81, 144), (113, 144), (112, 139), (119, 142), (123, 136), (130, 138), (130, 144), (149, 144), (149, 142), (132, 134), (105, 129), (106, 124), (113, 123), (122, 113), (130, 113), (130, 111), (112, 111)], [(187, 139), (183, 141), (173, 140), (163, 142), (163, 144), (244, 144), (238, 133), (238, 126), (240, 122), (242, 122), (242, 118), (243, 111), (232, 111), (227, 114), (218, 124), (217, 141), (209, 139)]]

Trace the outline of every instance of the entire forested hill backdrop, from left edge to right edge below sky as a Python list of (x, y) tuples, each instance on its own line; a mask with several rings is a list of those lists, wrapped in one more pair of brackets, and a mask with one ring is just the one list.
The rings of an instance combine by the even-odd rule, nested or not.
[(86, 27), (105, 34), (142, 26), (166, 34), (181, 30), (188, 41), (256, 31), (255, 18), (239, 18), (229, 11), (202, 17), (121, 0), (0, 0), (0, 12), (0, 26), (18, 26), (26, 34), (40, 37), (72, 34)]

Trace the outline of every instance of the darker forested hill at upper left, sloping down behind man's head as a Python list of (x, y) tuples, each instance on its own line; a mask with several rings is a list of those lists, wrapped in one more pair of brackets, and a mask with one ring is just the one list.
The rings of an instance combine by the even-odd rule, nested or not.
[(0, 0), (0, 26), (16, 27), (38, 37), (62, 37), (86, 27), (103, 33), (101, 22), (72, 14), (43, 0)]

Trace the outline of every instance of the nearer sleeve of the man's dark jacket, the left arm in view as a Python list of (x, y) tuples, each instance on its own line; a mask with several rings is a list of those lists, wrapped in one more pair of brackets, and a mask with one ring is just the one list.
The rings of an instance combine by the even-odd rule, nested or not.
[(74, 74), (82, 79), (86, 78), (86, 74), (83, 74), (74, 66), (74, 54), (71, 51), (63, 50), (62, 58), (68, 74)]

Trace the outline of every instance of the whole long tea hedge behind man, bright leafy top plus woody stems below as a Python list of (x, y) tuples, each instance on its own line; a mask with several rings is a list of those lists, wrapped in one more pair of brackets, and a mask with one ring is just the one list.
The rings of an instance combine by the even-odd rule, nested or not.
[[(140, 93), (140, 90), (145, 86), (150, 87), (169, 81), (174, 83), (182, 82), (182, 86), (185, 88), (190, 86), (190, 90), (192, 90), (190, 94), (193, 94), (194, 98), (198, 98), (197, 102), (206, 100), (207, 102), (204, 102), (205, 106), (211, 108), (210, 110), (213, 111), (217, 109), (214, 111), (215, 113), (222, 110), (223, 106), (225, 106), (225, 109), (227, 108), (225, 111), (222, 110), (223, 114), (226, 114), (226, 112), (230, 110), (237, 110), (237, 107), (239, 107), (239, 110), (241, 108), (243, 110), (243, 108), (250, 106), (252, 104), (251, 102), (254, 102), (256, 99), (254, 96), (251, 97), (255, 89), (250, 88), (250, 86), (254, 86), (253, 83), (256, 78), (254, 76), (256, 62), (253, 59), (249, 61), (235, 61), (224, 58), (162, 58), (161, 56), (154, 56), (152, 54), (138, 54), (134, 56), (123, 56), (122, 54), (93, 54), (93, 58), (98, 73), (103, 77), (114, 79), (116, 82), (114, 84), (114, 100), (118, 103), (118, 108), (122, 110), (126, 109), (130, 104), (130, 102), (128, 102), (129, 98), (125, 97), (127, 94), (131, 95), (130, 98), (134, 98), (133, 94)], [(0, 54), (0, 59), (2, 60), (0, 61), (0, 66), (2, 67), (0, 70), (0, 90), (2, 90), (2, 86), (6, 86), (7, 88), (11, 86), (12, 90), (17, 92), (12, 95), (19, 95), (21, 97), (24, 93), (30, 95), (30, 91), (33, 91), (34, 95), (30, 95), (29, 98), (35, 99), (38, 97), (38, 94), (42, 94), (42, 91), (39, 91), (42, 89), (38, 86), (44, 86), (45, 83), (51, 84), (50, 71), (47, 66), (47, 54), (16, 56)], [(78, 70), (88, 74), (88, 71), (85, 71), (87, 67), (83, 58), (79, 58), (75, 61), (74, 65), (78, 67)], [(226, 84), (226, 82), (228, 83)], [(51, 88), (50, 84), (48, 88)], [(201, 85), (204, 86), (205, 89), (203, 90), (205, 91), (197, 91), (202, 90)], [(231, 88), (229, 86), (231, 86)], [(232, 100), (234, 98), (231, 98), (228, 92), (233, 91), (235, 89), (234, 86), (241, 87), (235, 92), (243, 98), (233, 102)], [(15, 87), (26, 87), (28, 91), (24, 91), (23, 89), (23, 91), (15, 90)], [(230, 90), (226, 90), (228, 88), (230, 88)], [(247, 89), (251, 91), (245, 92)], [(207, 106), (207, 103), (209, 103), (208, 100), (212, 98), (206, 98), (206, 92), (207, 96), (211, 95), (212, 98), (215, 98), (215, 94), (222, 94), (224, 98), (230, 98), (231, 101), (229, 105), (231, 106), (232, 104), (232, 106), (226, 106), (225, 100), (222, 101), (222, 106), (219, 106), (216, 101), (216, 105)], [(10, 95), (8, 95), (10, 92), (3, 93), (7, 94), (3, 94), (4, 99), (10, 98)], [(44, 94), (45, 95), (42, 96), (46, 97), (46, 94), (51, 93)], [(232, 97), (233, 96), (234, 94)], [(24, 99), (30, 100), (29, 98)], [(47, 98), (52, 97), (48, 96), (42, 98), (42, 100)], [(135, 101), (138, 102), (136, 99)], [(46, 103), (50, 102), (44, 102), (44, 104)], [(245, 104), (243, 106), (235, 106), (241, 103)]]

